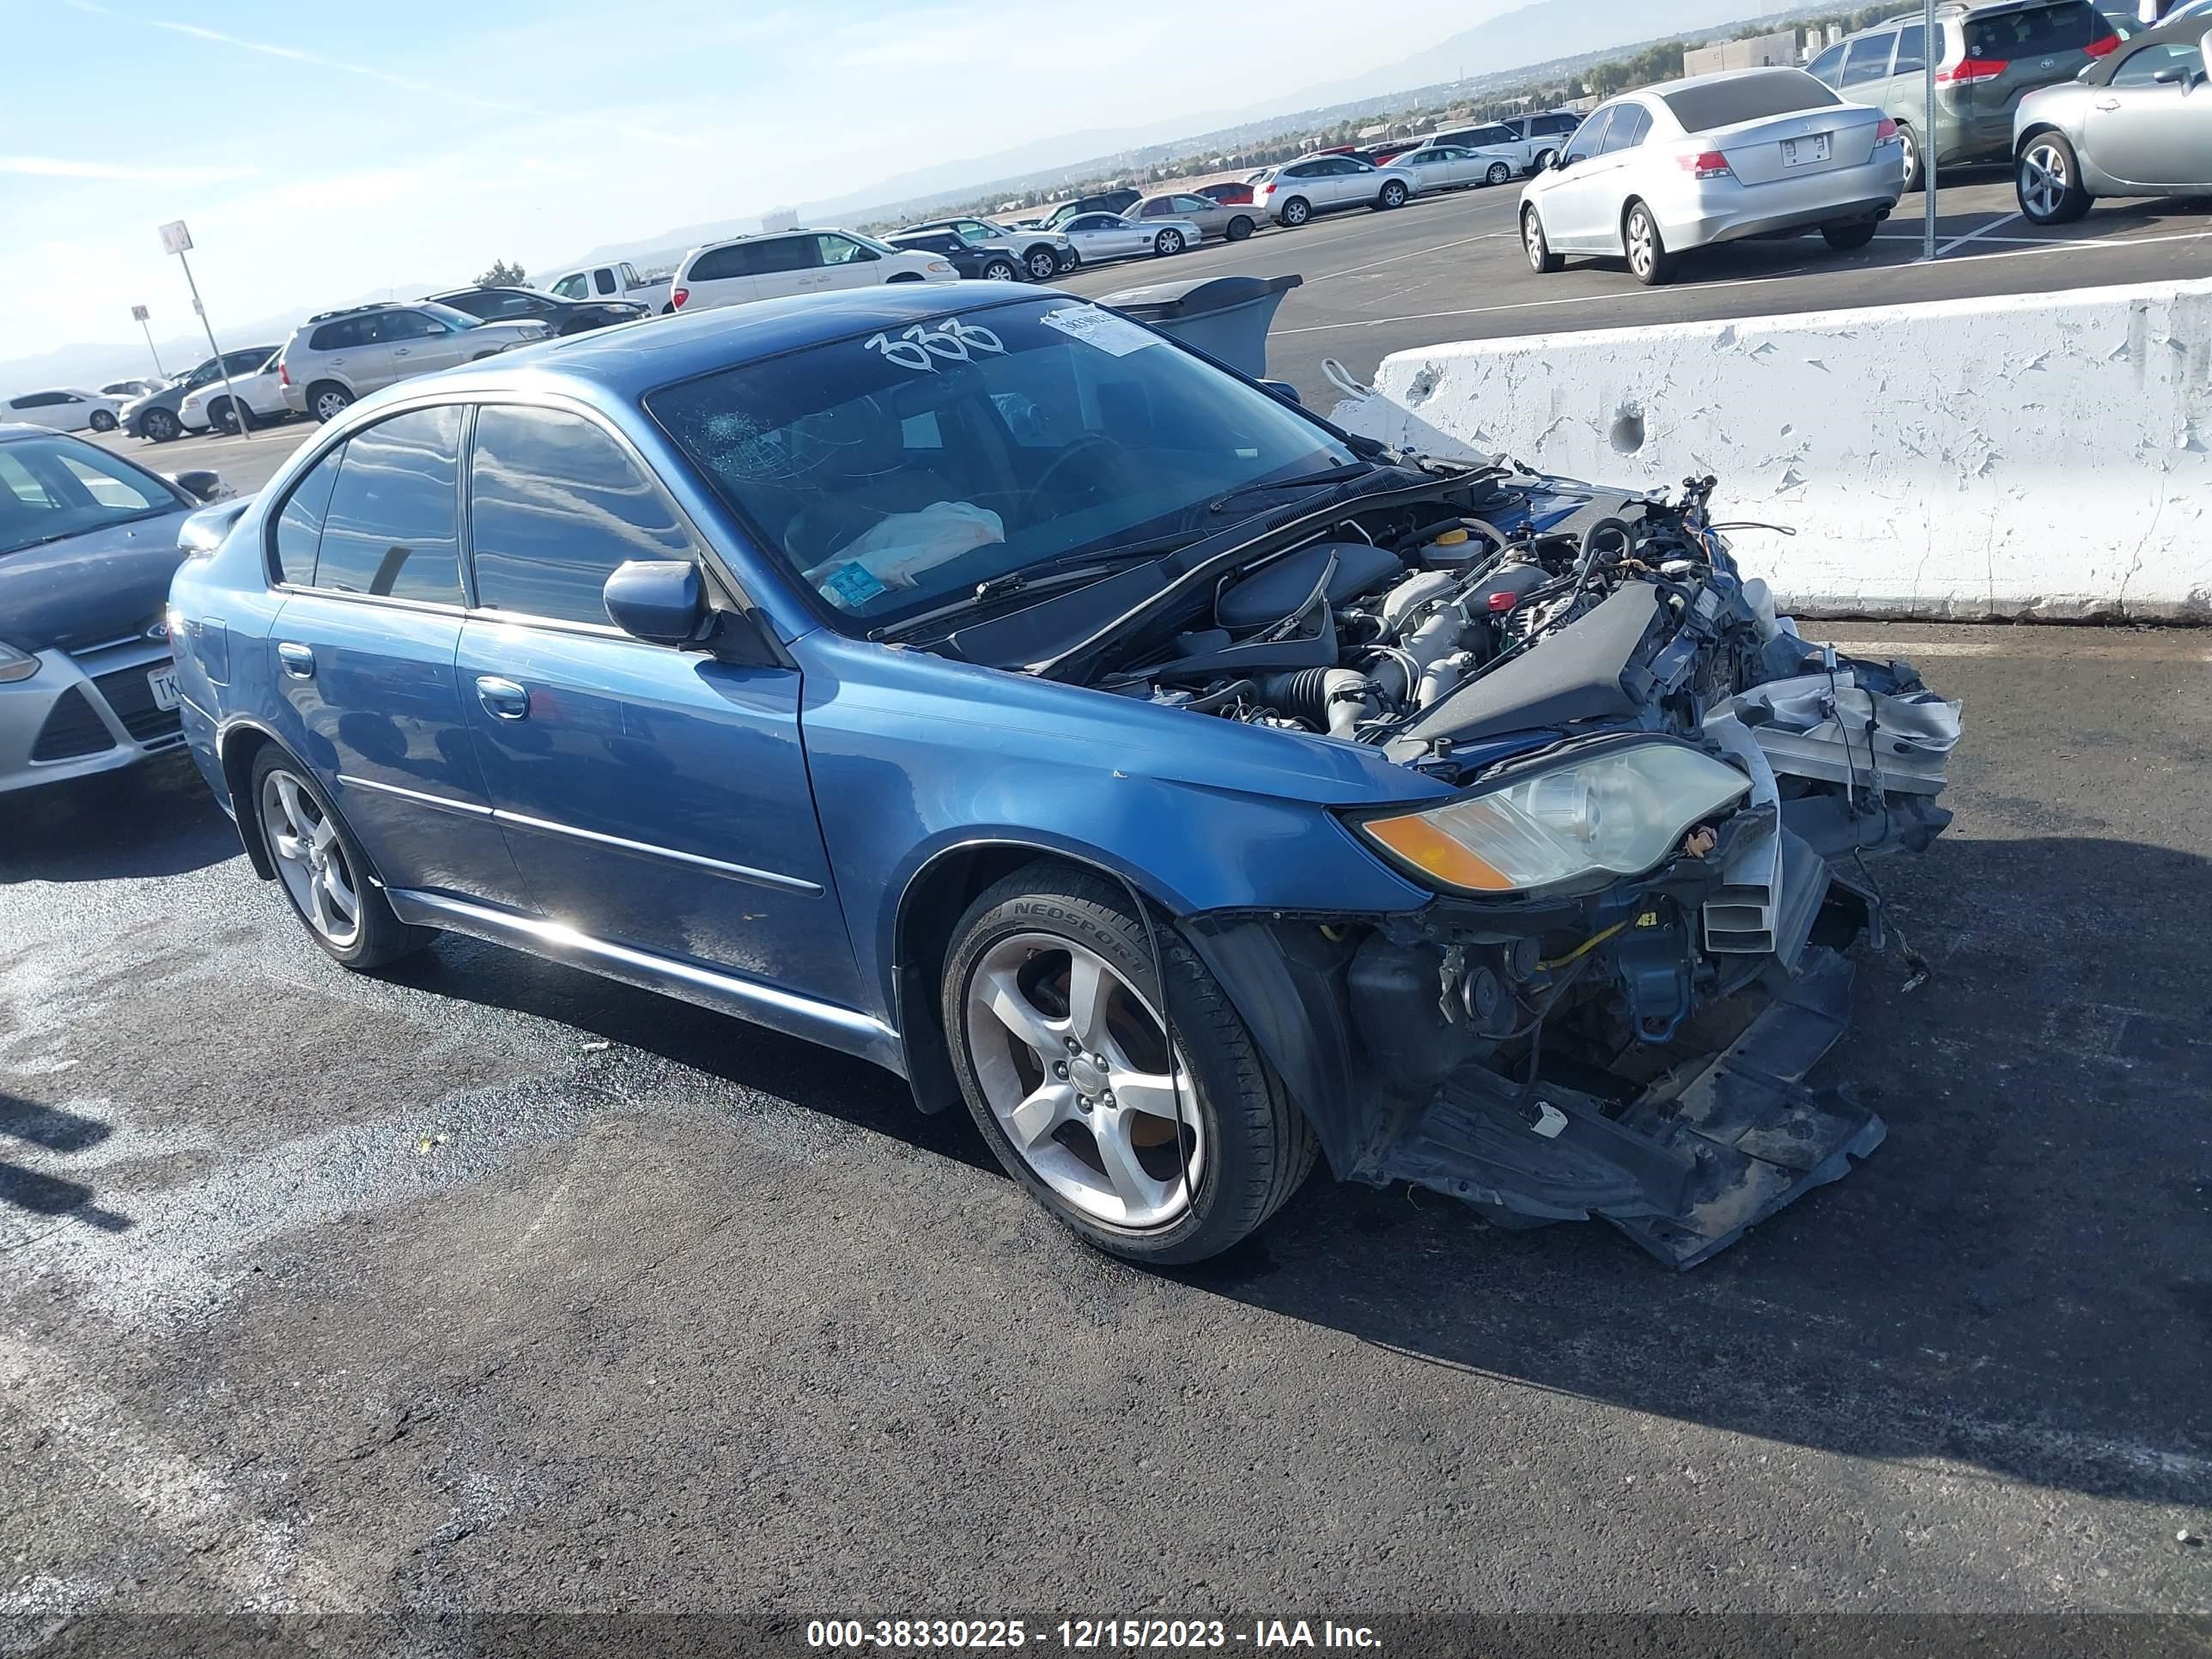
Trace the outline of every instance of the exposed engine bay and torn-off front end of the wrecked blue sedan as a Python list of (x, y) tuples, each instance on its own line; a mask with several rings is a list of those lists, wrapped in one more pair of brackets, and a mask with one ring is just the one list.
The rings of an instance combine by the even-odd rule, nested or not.
[(1371, 1079), (1321, 1124), (1340, 1177), (1595, 1214), (1694, 1265), (1882, 1139), (1803, 1079), (1847, 1022), (1843, 951), (1900, 942), (1867, 858), (1949, 823), (1960, 706), (1801, 639), (1712, 487), (1491, 469), (1462, 511), (1354, 513), (1219, 577), (1091, 679), (1469, 792), (1360, 825), (1442, 889), (1418, 914), (1217, 927), (1245, 975), (1234, 936), (1265, 927), (1316, 1026), (1285, 1042)]

